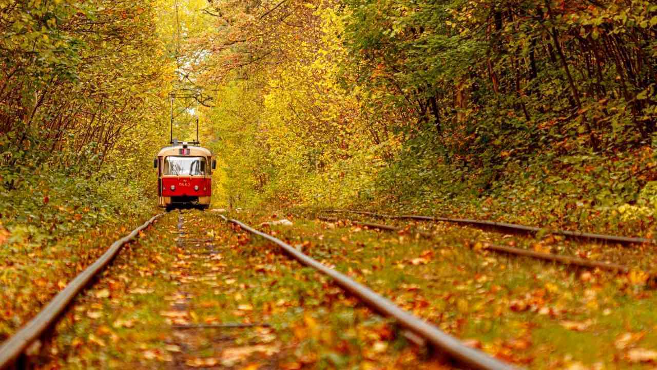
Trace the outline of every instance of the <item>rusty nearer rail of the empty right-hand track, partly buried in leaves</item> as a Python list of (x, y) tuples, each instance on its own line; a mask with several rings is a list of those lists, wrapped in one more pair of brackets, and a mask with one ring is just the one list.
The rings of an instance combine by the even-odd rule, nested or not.
[[(323, 220), (323, 221), (337, 221), (338, 219), (332, 219), (330, 217), (317, 217), (317, 219)], [(371, 223), (361, 223), (358, 221), (351, 221), (351, 223), (354, 225), (363, 225), (363, 226), (373, 226), (376, 228), (379, 228), (381, 230), (388, 230), (388, 231), (397, 231), (397, 230), (403, 230), (401, 227), (396, 227), (396, 226), (390, 226), (390, 225), (382, 225), (382, 224), (371, 224)], [(426, 234), (426, 233), (424, 233)], [(429, 234), (430, 235), (430, 234)], [(532, 251), (532, 250), (525, 250), (522, 248), (515, 248), (515, 247), (510, 247), (510, 246), (501, 246), (499, 244), (490, 244), (488, 242), (482, 242), (483, 250), (489, 250), (489, 251), (495, 251), (497, 253), (507, 253), (507, 254), (512, 254), (512, 255), (520, 255), (523, 257), (530, 257), (533, 259), (542, 259), (543, 261), (551, 261), (551, 262), (557, 262), (561, 263), (562, 265), (573, 265), (573, 266), (578, 266), (578, 267), (586, 267), (586, 268), (599, 268), (602, 270), (610, 270), (610, 271), (617, 271), (618, 273), (629, 273), (630, 269), (627, 266), (623, 265), (618, 265), (617, 263), (610, 263), (610, 262), (602, 262), (602, 261), (591, 261), (590, 259), (584, 259), (584, 258), (579, 258), (579, 257), (572, 257), (570, 255), (558, 255), (555, 253), (544, 253), (544, 252), (538, 252), (538, 251)], [(648, 273), (651, 277), (654, 276), (654, 274)]]

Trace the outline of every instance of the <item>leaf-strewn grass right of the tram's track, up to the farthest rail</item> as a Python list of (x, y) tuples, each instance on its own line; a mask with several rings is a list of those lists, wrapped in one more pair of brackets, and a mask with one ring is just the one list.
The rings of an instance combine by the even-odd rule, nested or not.
[[(533, 238), (419, 225), (434, 229), (434, 240), (427, 241), (412, 234), (334, 226), (300, 219), (292, 228), (273, 228), (293, 243), (309, 244), (310, 255), (338, 261), (336, 269), (408, 311), (507, 361), (536, 369), (633, 368), (643, 365), (627, 361), (629, 350), (657, 350), (652, 334), (657, 299), (641, 278), (587, 273), (468, 247), (474, 240), (514, 240), (532, 249), (541, 242)], [(576, 244), (558, 238), (541, 243), (560, 253), (593, 255), (633, 267), (648, 267), (654, 256), (643, 246)], [(413, 259), (423, 254), (430, 258), (415, 264)], [(627, 332), (643, 333), (643, 338), (617, 348), (614, 342)]]

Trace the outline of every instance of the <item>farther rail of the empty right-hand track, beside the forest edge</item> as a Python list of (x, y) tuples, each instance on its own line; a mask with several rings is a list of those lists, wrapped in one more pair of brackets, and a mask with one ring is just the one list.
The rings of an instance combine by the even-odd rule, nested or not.
[(432, 216), (421, 216), (421, 215), (386, 215), (382, 213), (374, 212), (365, 212), (365, 211), (351, 211), (350, 209), (327, 209), (328, 212), (335, 213), (355, 213), (359, 215), (369, 215), (373, 217), (379, 217), (383, 219), (405, 219), (405, 220), (418, 220), (418, 221), (440, 221), (445, 223), (459, 223), (459, 224), (468, 224), (476, 226), (488, 226), (488, 227), (497, 227), (497, 228), (506, 228), (509, 230), (518, 230), (523, 232), (537, 233), (541, 230), (545, 230), (552, 234), (567, 236), (569, 238), (579, 238), (579, 239), (591, 239), (591, 240), (603, 240), (606, 242), (617, 242), (623, 244), (629, 243), (648, 243), (648, 244), (657, 244), (657, 240), (648, 239), (648, 238), (636, 238), (632, 236), (618, 236), (618, 235), (606, 235), (606, 234), (595, 234), (592, 232), (581, 232), (581, 231), (570, 231), (570, 230), (550, 230), (547, 228), (539, 228), (536, 226), (527, 226), (527, 225), (518, 225), (512, 223), (499, 223), (495, 221), (484, 221), (484, 220), (475, 220), (475, 219), (454, 219), (450, 217), (432, 217)]

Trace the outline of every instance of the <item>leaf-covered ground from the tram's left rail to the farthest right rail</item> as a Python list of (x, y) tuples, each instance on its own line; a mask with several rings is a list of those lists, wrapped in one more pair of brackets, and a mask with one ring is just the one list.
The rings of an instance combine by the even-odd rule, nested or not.
[[(384, 225), (262, 211), (227, 216), (232, 223), (212, 211), (159, 219), (78, 294), (47, 340), (30, 346), (30, 363), (647, 369), (657, 361), (657, 297), (644, 272), (650, 264), (631, 264), (639, 253), (655, 257), (648, 245), (516, 237), (424, 221)], [(493, 245), (608, 261), (629, 271), (574, 269), (494, 253), (487, 248)], [(390, 301), (377, 307), (381, 297)], [(388, 316), (399, 311), (420, 320)], [(433, 329), (423, 332), (425, 326)], [(444, 336), (434, 342), (431, 332)], [(445, 338), (451, 350), (441, 346)]]

